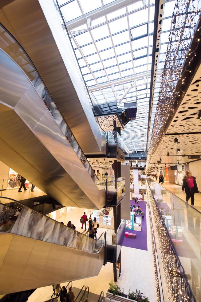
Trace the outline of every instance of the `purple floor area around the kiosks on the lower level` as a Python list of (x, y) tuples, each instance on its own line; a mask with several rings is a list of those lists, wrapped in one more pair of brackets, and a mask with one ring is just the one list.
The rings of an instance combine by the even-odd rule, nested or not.
[[(135, 204), (133, 200), (131, 200), (131, 205)], [(136, 238), (124, 238), (123, 246), (124, 247), (132, 247), (138, 248), (140, 250), (147, 251), (147, 213), (146, 213), (146, 201), (139, 201), (139, 204), (135, 204), (135, 206), (140, 206), (140, 208), (144, 211), (144, 221), (142, 222), (142, 231), (130, 231), (125, 230), (126, 232), (137, 234)]]

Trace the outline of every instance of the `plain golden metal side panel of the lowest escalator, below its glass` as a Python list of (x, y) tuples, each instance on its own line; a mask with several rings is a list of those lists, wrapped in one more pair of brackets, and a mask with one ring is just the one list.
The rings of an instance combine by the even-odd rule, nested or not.
[(95, 254), (3, 232), (0, 245), (0, 294), (95, 276), (104, 262), (104, 247)]

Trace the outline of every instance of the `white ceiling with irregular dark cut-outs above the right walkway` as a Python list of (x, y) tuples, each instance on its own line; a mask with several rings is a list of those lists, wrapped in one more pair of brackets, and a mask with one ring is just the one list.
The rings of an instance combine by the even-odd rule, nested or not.
[[(166, 134), (172, 135), (163, 137), (148, 168), (154, 167), (154, 162), (156, 167), (164, 168), (165, 164), (169, 166), (177, 165), (178, 161), (179, 164), (192, 161), (192, 159), (188, 159), (188, 155), (201, 155), (199, 111), (201, 111), (201, 65), (166, 131)], [(175, 138), (178, 139), (178, 144), (174, 143)], [(177, 149), (180, 149), (179, 153), (176, 152)], [(167, 156), (167, 153), (170, 156)], [(186, 155), (186, 157), (182, 157), (182, 155)], [(162, 161), (158, 165), (157, 161), (160, 158)]]

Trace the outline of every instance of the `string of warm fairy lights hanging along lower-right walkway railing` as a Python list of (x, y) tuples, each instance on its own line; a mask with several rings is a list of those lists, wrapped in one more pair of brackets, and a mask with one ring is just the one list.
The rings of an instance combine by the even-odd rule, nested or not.
[(196, 300), (191, 291), (184, 269), (171, 241), (152, 190), (150, 189), (151, 179), (146, 181), (147, 198), (154, 217), (160, 256), (163, 263), (164, 278), (168, 288), (168, 299), (172, 302), (195, 302)]

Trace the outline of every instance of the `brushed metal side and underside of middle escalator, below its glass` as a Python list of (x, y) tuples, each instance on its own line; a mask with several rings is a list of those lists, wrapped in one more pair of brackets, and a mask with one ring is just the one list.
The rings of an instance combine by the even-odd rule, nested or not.
[[(24, 72), (3, 51), (0, 51), (0, 63), (2, 78), (9, 82), (6, 90), (0, 90), (0, 138), (16, 153), (22, 155), (25, 162), (21, 161), (21, 166), (16, 161), (12, 166), (9, 164), (12, 158), (6, 157), (8, 154), (3, 148), (0, 153), (2, 160), (5, 158), (4, 162), (7, 165), (12, 166), (63, 205), (68, 204), (55, 196), (54, 190), (50, 189), (52, 183), (61, 190), (62, 193), (59, 195), (65, 194), (69, 197), (67, 199), (76, 203), (81, 202), (81, 207), (104, 206), (104, 190), (100, 191), (97, 188)], [(12, 74), (14, 76), (10, 77)], [(20, 85), (18, 77), (21, 80)], [(23, 88), (20, 92), (19, 87)], [(17, 125), (15, 132), (12, 129), (13, 124)], [(22, 167), (26, 165), (26, 161), (45, 175), (45, 189), (42, 186), (44, 181), (41, 182), (41, 177), (40, 181), (38, 180), (36, 171), (31, 174), (30, 169), (27, 169), (24, 173)]]

